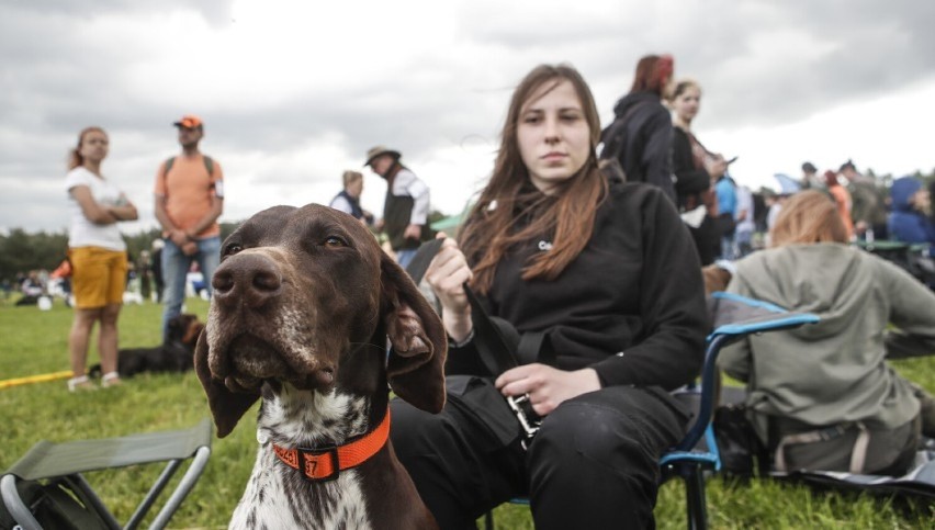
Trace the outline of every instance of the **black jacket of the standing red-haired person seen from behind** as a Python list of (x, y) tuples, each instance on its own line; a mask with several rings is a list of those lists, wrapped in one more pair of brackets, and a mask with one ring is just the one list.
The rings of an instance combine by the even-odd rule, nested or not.
[[(613, 108), (613, 123), (600, 134), (604, 149), (618, 153), (629, 182), (661, 188), (675, 202), (672, 116), (652, 92), (632, 92)], [(604, 155), (602, 155), (604, 156)]]

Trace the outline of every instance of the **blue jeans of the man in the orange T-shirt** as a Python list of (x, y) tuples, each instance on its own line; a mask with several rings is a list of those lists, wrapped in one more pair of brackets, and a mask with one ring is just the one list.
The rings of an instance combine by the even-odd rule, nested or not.
[(199, 270), (204, 275), (207, 294), (213, 294), (211, 278), (221, 263), (221, 236), (199, 239), (198, 251), (191, 256), (185, 256), (174, 243), (166, 239), (166, 246), (162, 248), (162, 279), (166, 284), (162, 293), (162, 303), (166, 304), (162, 309), (164, 338), (168, 331), (169, 320), (182, 312), (182, 303), (185, 301), (185, 277), (194, 261), (198, 261)]

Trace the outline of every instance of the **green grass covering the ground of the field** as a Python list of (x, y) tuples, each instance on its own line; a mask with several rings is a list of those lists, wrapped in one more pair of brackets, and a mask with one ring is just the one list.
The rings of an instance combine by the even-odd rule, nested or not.
[[(202, 319), (207, 304), (189, 298), (189, 312)], [(161, 307), (131, 305), (121, 316), (121, 345), (151, 346), (159, 341)], [(0, 380), (68, 369), (66, 337), (71, 311), (60, 301), (49, 312), (0, 303)], [(89, 363), (98, 362), (92, 347)], [(935, 359), (895, 363), (905, 376), (935, 391)], [(122, 387), (69, 394), (65, 381), (0, 390), (2, 450), (0, 470), (9, 467), (41, 439), (64, 441), (189, 427), (209, 415), (201, 385), (193, 373), (144, 375)], [(215, 440), (207, 469), (172, 519), (171, 528), (226, 528), (252, 469), (257, 442), (254, 413), (234, 432)], [(159, 466), (140, 466), (88, 474), (119, 519), (125, 520)], [(935, 527), (935, 508), (904, 510), (887, 500), (866, 496), (819, 494), (769, 481), (729, 484), (709, 482), (712, 528), (848, 528), (922, 529)], [(656, 507), (657, 527), (685, 528), (684, 490), (665, 484)], [(498, 529), (532, 528), (528, 509), (504, 506), (496, 511)]]

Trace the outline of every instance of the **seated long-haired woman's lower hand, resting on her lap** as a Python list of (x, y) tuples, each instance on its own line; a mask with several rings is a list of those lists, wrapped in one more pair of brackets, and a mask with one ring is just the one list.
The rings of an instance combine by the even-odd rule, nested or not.
[(505, 396), (529, 394), (532, 409), (540, 416), (551, 413), (565, 399), (600, 390), (594, 369), (566, 372), (538, 362), (507, 370), (494, 384)]

